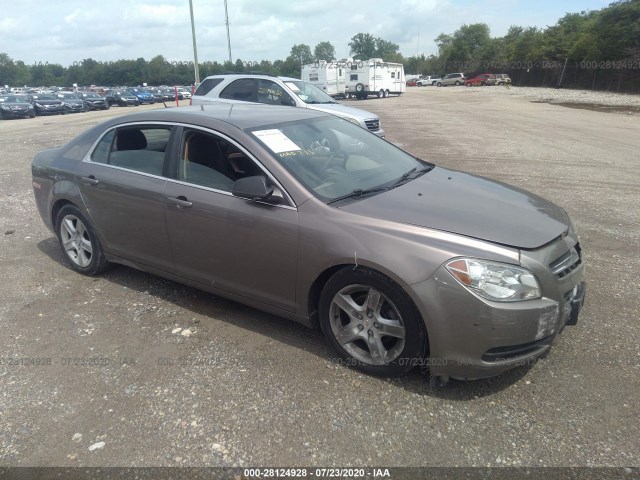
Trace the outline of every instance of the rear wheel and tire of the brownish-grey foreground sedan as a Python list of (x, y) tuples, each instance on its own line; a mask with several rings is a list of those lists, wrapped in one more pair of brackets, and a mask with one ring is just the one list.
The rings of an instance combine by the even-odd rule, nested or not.
[(75, 271), (92, 276), (109, 265), (93, 228), (75, 205), (65, 205), (58, 213), (56, 234), (65, 258)]

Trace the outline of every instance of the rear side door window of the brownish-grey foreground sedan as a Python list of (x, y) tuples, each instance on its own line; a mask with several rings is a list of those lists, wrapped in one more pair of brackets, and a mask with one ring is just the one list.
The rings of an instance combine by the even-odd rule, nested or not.
[(91, 160), (162, 176), (169, 127), (123, 127), (102, 137)]

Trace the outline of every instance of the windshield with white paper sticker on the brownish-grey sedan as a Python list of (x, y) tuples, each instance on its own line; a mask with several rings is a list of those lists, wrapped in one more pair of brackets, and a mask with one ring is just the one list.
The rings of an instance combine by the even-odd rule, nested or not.
[(326, 203), (357, 201), (411, 181), (433, 168), (337, 117), (261, 126), (251, 133)]

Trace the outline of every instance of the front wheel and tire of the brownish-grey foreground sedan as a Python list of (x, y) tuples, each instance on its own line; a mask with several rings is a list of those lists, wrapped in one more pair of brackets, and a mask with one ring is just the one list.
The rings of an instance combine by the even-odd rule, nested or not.
[(347, 267), (320, 296), (320, 326), (348, 365), (382, 376), (402, 375), (420, 364), (426, 332), (406, 292), (375, 270)]

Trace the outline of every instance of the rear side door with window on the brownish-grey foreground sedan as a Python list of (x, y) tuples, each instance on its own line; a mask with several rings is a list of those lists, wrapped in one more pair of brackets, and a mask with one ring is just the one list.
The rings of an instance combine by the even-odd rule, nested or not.
[(168, 126), (127, 126), (107, 132), (81, 165), (82, 200), (114, 255), (170, 271), (163, 191)]

